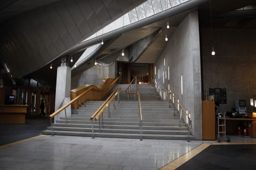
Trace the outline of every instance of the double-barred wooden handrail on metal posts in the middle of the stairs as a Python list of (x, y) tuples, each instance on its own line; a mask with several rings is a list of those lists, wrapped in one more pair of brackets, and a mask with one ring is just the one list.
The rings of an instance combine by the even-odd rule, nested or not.
[[(119, 100), (119, 92), (121, 91), (121, 88), (116, 88), (113, 93), (108, 97), (108, 99), (106, 99), (106, 101), (98, 108), (98, 110), (90, 117), (90, 121), (92, 123), (92, 133), (93, 133), (93, 138), (94, 138), (94, 130), (93, 130), (93, 119), (95, 119), (95, 122), (97, 120), (99, 120), (99, 133), (100, 133), (100, 127), (102, 125), (102, 129), (103, 127), (103, 113), (106, 110), (106, 108), (108, 108), (108, 117), (109, 117), (109, 113), (110, 113), (110, 105), (111, 102), (113, 101), (113, 107), (115, 108), (115, 98), (116, 96), (118, 96), (118, 102), (120, 102)], [(102, 118), (102, 123), (100, 121), (100, 118)]]

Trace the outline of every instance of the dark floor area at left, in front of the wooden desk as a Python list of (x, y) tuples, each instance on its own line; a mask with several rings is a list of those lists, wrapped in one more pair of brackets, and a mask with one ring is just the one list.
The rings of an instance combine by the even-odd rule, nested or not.
[(0, 145), (41, 135), (42, 130), (46, 130), (48, 126), (48, 116), (26, 117), (24, 124), (0, 124)]

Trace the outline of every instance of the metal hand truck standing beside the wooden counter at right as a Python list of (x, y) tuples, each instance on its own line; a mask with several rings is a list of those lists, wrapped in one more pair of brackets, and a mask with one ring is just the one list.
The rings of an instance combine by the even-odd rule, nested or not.
[[(218, 136), (217, 136), (216, 141), (217, 142), (221, 142), (221, 141), (230, 142), (230, 138), (228, 136), (226, 136), (226, 112), (218, 113), (217, 119), (218, 119)], [(224, 123), (224, 124), (220, 124), (220, 123)], [(221, 130), (224, 130), (224, 131), (220, 131), (220, 127), (223, 127), (223, 128), (221, 128)], [(221, 137), (220, 137), (220, 134), (222, 134)]]

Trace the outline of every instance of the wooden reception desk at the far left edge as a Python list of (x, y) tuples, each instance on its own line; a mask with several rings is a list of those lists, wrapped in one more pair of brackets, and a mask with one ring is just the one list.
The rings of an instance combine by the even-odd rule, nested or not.
[(25, 123), (28, 105), (0, 105), (0, 123)]

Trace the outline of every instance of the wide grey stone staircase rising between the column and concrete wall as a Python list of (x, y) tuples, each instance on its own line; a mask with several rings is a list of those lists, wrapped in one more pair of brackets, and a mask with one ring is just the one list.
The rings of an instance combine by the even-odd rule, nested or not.
[[(113, 137), (113, 138), (134, 138), (140, 139), (140, 116), (137, 95), (127, 95), (125, 89), (128, 85), (118, 85), (122, 88), (120, 91), (120, 103), (115, 102), (103, 114), (103, 128), (99, 133), (99, 122), (93, 121), (95, 137)], [(139, 85), (142, 100), (143, 112), (143, 139), (179, 139), (185, 140), (188, 135), (188, 128), (185, 123), (180, 122), (179, 112), (175, 110), (174, 105), (169, 102), (161, 102), (160, 96), (152, 85)], [(132, 91), (136, 91), (136, 87)], [(53, 124), (55, 135), (68, 136), (92, 136), (92, 125), (90, 116), (102, 105), (104, 101), (88, 101), (86, 106), (82, 105), (79, 109), (72, 109), (72, 116), (61, 117)], [(51, 127), (42, 132), (43, 134), (52, 134)], [(194, 139), (190, 136), (190, 139)]]

